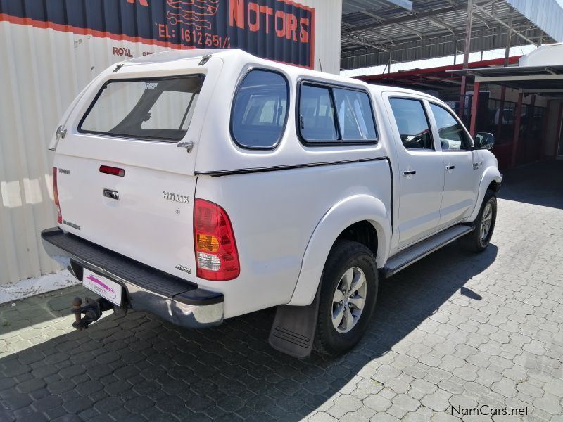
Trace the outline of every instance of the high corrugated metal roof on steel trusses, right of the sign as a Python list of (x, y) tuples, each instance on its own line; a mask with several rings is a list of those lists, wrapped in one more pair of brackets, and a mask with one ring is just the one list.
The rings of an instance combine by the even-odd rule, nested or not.
[[(409, 8), (410, 3), (343, 0), (341, 68), (403, 63), (463, 51), (467, 0), (416, 0)], [(474, 0), (472, 16), (472, 52), (505, 49), (507, 43), (563, 41), (563, 8), (557, 0)]]

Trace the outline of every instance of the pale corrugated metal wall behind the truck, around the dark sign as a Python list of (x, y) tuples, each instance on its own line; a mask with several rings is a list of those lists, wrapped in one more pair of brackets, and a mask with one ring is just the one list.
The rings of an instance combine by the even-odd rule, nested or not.
[[(298, 3), (315, 8), (315, 68), (321, 63), (325, 72), (338, 73), (342, 0)], [(127, 58), (114, 55), (114, 47), (133, 57), (165, 50), (0, 22), (0, 284), (58, 269), (39, 238), (42, 229), (56, 224), (47, 146), (80, 90)]]

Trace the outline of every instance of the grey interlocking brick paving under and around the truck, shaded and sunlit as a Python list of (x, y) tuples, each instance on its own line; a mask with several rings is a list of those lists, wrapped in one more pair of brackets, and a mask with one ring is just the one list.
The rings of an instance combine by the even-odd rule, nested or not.
[(335, 360), (270, 349), (272, 310), (205, 331), (132, 312), (76, 332), (80, 287), (2, 305), (0, 421), (455, 421), (482, 405), (563, 421), (563, 163), (505, 181), (488, 250), (450, 245), (382, 283), (365, 339)]

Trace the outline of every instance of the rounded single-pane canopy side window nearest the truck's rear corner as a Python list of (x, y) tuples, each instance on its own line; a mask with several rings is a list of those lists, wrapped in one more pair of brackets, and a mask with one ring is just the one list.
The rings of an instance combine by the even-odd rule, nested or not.
[(269, 70), (251, 70), (237, 89), (231, 116), (234, 141), (243, 148), (275, 148), (287, 120), (288, 84)]

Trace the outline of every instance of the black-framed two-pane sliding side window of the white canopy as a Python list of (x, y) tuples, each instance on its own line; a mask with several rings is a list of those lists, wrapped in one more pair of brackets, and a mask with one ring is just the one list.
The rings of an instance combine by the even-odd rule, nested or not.
[(312, 145), (377, 141), (372, 104), (365, 91), (305, 82), (299, 91), (298, 129)]

